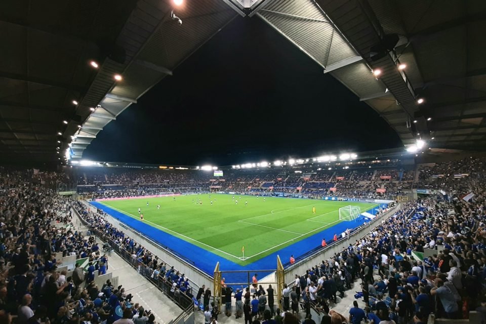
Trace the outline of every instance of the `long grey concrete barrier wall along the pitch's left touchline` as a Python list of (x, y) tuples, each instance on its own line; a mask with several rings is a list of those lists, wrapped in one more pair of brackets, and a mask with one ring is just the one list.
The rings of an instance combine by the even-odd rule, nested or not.
[[(86, 201), (84, 203), (90, 208), (91, 211), (97, 212), (97, 209), (93, 206), (89, 205)], [(164, 263), (169, 264), (170, 266), (174, 266), (179, 272), (184, 273), (189, 281), (191, 282), (191, 286), (193, 291), (199, 289), (199, 287), (206, 285), (206, 287), (210, 286), (213, 282), (213, 277), (200, 271), (193, 265), (189, 265), (186, 261), (179, 259), (177, 256), (174, 256), (170, 252), (164, 250), (160, 246), (157, 245), (156, 242), (152, 241), (150, 238), (146, 237), (142, 233), (136, 232), (131, 228), (127, 227), (125, 224), (121, 223), (119, 220), (115, 219), (114, 217), (110, 216), (109, 214), (105, 216), (106, 220), (111, 223), (117, 229), (123, 231), (128, 236), (133, 238), (138, 244), (141, 244), (147, 250), (152, 252), (156, 255), (160, 260), (164, 261)]]

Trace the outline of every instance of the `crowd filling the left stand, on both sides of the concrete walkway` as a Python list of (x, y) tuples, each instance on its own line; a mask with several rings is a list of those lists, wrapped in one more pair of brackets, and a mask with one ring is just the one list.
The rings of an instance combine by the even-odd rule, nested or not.
[[(154, 323), (154, 315), (134, 304), (122, 285), (113, 287), (110, 280), (103, 287), (95, 285), (95, 272), (102, 275), (109, 270), (105, 254), (109, 249), (99, 246), (94, 236), (86, 236), (86, 231), (75, 229), (74, 201), (46, 188), (46, 183), (32, 182), (32, 177), (32, 170), (0, 168), (0, 322), (10, 323), (13, 318), (17, 324), (111, 324), (141, 316), (144, 323)], [(124, 248), (132, 248), (141, 272), (147, 272), (142, 268), (146, 264), (154, 269), (152, 273), (164, 274), (171, 287), (177, 282), (168, 294), (176, 296), (176, 289), (179, 294), (190, 292), (183, 275), (173, 268), (166, 271), (156, 257), (102, 219), (84, 216), (97, 226), (103, 224), (103, 232)], [(59, 253), (88, 258), (89, 266), (82, 269), (76, 264), (68, 276), (56, 259)]]

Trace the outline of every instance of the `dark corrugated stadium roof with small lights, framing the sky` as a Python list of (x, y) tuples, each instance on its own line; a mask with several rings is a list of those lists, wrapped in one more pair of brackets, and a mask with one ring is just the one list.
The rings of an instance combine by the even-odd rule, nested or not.
[(0, 159), (57, 159), (71, 136), (81, 157), (104, 126), (237, 15), (272, 26), (375, 109), (403, 144), (421, 137), (434, 138), (433, 147), (486, 147), (483, 1), (12, 0), (0, 4), (8, 44), (0, 53)]

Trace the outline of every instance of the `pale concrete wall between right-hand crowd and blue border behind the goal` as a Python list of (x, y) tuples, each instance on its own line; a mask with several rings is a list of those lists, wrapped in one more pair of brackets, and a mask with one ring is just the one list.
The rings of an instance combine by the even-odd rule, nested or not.
[(354, 244), (356, 240), (368, 235), (373, 229), (375, 229), (376, 226), (374, 225), (393, 215), (394, 212), (400, 207), (401, 204), (398, 203), (385, 213), (375, 217), (370, 222), (356, 227), (349, 235), (346, 235), (345, 238), (332, 241), (326, 247), (318, 246), (308, 253), (296, 258), (296, 262), (293, 264), (290, 262), (284, 264), (285, 282), (287, 282), (287, 284), (291, 284), (295, 281), (295, 274), (305, 273), (306, 270), (312, 268), (313, 266), (319, 265), (321, 260), (327, 260), (336, 253), (344, 251), (350, 244)]

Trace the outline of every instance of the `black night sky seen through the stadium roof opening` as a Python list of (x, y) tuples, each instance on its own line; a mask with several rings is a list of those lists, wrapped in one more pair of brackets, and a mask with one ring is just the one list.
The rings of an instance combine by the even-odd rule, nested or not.
[(257, 17), (237, 17), (83, 157), (232, 165), (400, 145), (385, 120), (287, 39)]

